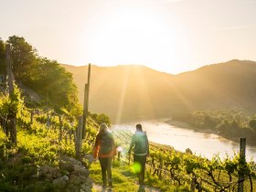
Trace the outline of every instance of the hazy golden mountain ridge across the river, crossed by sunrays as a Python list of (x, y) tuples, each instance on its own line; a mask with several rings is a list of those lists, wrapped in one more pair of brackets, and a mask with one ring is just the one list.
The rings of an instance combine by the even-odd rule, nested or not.
[[(63, 67), (73, 73), (82, 102), (88, 66)], [(206, 109), (255, 112), (256, 62), (230, 60), (178, 75), (144, 66), (91, 66), (89, 110), (107, 113), (113, 123)]]

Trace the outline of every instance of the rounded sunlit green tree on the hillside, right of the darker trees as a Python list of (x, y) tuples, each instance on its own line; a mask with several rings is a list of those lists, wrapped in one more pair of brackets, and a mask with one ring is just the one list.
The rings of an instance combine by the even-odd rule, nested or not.
[(31, 69), (31, 78), (27, 84), (44, 97), (46, 104), (56, 112), (61, 108), (71, 111), (77, 106), (78, 89), (73, 82), (72, 74), (61, 67), (56, 60), (38, 58)]

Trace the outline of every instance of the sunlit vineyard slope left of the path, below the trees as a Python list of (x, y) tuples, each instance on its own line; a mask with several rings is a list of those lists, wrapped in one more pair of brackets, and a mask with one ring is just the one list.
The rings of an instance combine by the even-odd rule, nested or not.
[[(72, 172), (61, 169), (65, 156), (73, 159), (76, 157), (78, 120), (70, 119), (68, 115), (59, 114), (52, 109), (29, 109), (21, 104), (17, 107), (16, 144), (13, 144), (7, 133), (5, 101), (8, 99), (0, 102), (0, 191), (48, 192), (58, 191), (63, 187), (66, 187), (67, 192), (80, 191), (82, 183), (77, 182), (84, 183), (90, 179), (79, 181), (78, 176), (71, 176)], [(79, 159), (85, 168), (88, 168), (90, 160), (85, 157), (91, 154), (97, 128), (101, 121), (108, 121), (104, 117), (90, 113), (87, 118), (87, 133), (81, 145)], [(69, 176), (69, 183), (65, 181), (57, 186), (55, 180), (58, 181), (63, 176)], [(72, 182), (77, 184), (74, 186)], [(85, 191), (91, 191), (90, 185), (88, 183), (83, 187), (88, 189)]]

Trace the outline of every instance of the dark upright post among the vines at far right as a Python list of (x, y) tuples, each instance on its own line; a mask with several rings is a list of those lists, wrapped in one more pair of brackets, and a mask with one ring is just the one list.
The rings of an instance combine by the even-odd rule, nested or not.
[[(245, 149), (246, 149), (246, 138), (240, 138), (240, 166), (246, 164), (245, 159)], [(239, 187), (238, 192), (243, 192), (243, 182), (244, 182), (244, 173), (239, 171)]]

